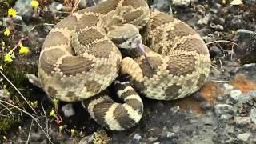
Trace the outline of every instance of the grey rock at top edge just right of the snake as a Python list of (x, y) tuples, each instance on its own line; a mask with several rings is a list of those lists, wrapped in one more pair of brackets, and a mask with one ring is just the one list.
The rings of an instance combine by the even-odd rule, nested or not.
[(162, 11), (162, 12), (165, 12), (165, 13), (169, 13), (169, 11), (170, 11), (170, 1), (166, 1), (166, 0), (154, 1), (151, 8), (154, 9), (154, 10), (159, 10), (159, 11)]

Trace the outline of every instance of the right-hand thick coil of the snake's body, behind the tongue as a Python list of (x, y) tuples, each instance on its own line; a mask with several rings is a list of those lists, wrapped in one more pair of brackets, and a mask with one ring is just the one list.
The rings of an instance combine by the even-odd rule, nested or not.
[(152, 10), (142, 37), (153, 70), (138, 50), (124, 52), (142, 69), (143, 81), (131, 80), (139, 93), (159, 100), (178, 99), (193, 94), (206, 82), (209, 51), (200, 35), (186, 23)]

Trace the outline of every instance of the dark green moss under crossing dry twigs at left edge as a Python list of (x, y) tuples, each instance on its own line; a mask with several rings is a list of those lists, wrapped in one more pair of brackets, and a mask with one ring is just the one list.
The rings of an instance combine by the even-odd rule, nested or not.
[[(35, 69), (31, 69), (29, 66), (22, 66), (21, 63), (18, 63), (20, 61), (14, 61), (13, 63), (6, 63), (2, 60), (0, 61), (0, 66), (2, 66), (3, 70), (2, 73), (6, 75), (6, 78), (10, 80), (16, 86), (18, 89), (25, 89), (25, 91), (21, 91), (24, 97), (28, 101), (34, 100), (34, 97), (32, 97), (33, 91), (30, 91), (28, 89), (31, 88), (31, 84), (26, 78), (26, 73), (30, 71), (34, 71)], [(29, 70), (30, 69), (30, 70)], [(2, 77), (2, 75), (1, 75)], [(15, 106), (18, 106), (20, 108), (24, 108), (27, 111), (30, 111), (30, 107), (26, 104), (26, 102), (23, 100), (23, 98), (18, 94), (18, 92), (14, 89), (13, 86), (10, 85), (9, 82), (6, 81), (5, 78), (3, 78), (2, 81), (2, 87), (5, 85), (6, 90), (10, 92), (10, 102), (12, 102)], [(26, 91), (28, 90), (28, 91)], [(10, 106), (8, 106), (11, 108)], [(0, 110), (2, 110), (3, 107), (0, 105)], [(9, 110), (2, 110), (1, 114), (4, 115), (10, 115), (10, 117), (1, 117), (0, 118), (0, 133), (5, 134), (7, 130), (10, 130), (10, 128), (14, 128), (15, 126), (18, 126), (21, 122), (20, 111), (17, 109), (10, 109), (14, 115), (10, 115)], [(24, 117), (24, 116), (23, 116)]]

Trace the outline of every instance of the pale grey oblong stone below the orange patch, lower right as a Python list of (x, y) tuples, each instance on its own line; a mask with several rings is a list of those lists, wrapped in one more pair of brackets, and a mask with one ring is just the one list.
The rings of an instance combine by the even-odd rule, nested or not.
[(234, 114), (234, 108), (233, 106), (227, 105), (227, 104), (218, 104), (214, 106), (214, 112), (215, 114), (222, 115), (222, 114)]

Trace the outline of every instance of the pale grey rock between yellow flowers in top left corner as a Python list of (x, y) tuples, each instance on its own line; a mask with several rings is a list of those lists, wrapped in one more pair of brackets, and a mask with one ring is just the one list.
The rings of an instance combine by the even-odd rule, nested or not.
[(15, 2), (14, 9), (17, 10), (17, 14), (22, 17), (22, 20), (26, 23), (30, 22), (34, 14), (33, 7), (30, 5), (32, 0), (18, 0)]

